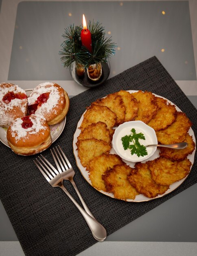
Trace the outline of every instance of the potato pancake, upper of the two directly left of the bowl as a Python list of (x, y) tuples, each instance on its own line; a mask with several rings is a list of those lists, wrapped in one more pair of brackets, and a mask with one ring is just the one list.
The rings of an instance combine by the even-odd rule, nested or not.
[(90, 124), (79, 135), (77, 139), (101, 139), (111, 145), (111, 136), (107, 125), (103, 122)]

